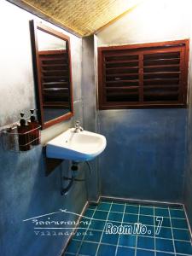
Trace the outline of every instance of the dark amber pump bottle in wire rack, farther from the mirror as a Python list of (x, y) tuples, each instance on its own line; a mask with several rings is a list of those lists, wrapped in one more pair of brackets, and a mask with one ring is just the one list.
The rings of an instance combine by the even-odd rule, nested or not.
[(20, 113), (20, 117), (20, 125), (17, 125), (19, 148), (20, 151), (27, 151), (32, 147), (29, 137), (29, 125), (26, 125), (23, 112)]

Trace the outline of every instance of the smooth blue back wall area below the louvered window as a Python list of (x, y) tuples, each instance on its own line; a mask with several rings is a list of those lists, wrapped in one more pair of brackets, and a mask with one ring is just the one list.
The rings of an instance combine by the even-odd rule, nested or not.
[(99, 112), (102, 195), (182, 201), (186, 109)]

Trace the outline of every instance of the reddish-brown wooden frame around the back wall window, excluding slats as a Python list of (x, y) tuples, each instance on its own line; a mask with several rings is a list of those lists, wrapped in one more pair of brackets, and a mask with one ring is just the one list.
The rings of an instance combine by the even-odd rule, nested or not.
[[(176, 49), (177, 47), (183, 49), (183, 57), (180, 55), (179, 70), (181, 70), (183, 76), (182, 79), (179, 78), (179, 82), (182, 83), (178, 86), (178, 90), (180, 90), (179, 100), (177, 102), (168, 102), (168, 101), (159, 101), (159, 102), (144, 102), (141, 101), (141, 86), (139, 84), (138, 87), (138, 102), (107, 102), (105, 96), (105, 81), (106, 74), (104, 72), (105, 67), (105, 53), (108, 51), (115, 50), (131, 50), (132, 54), (145, 52), (150, 53), (154, 52), (154, 49), (157, 51), (165, 52), (165, 49)], [(173, 50), (172, 50), (173, 51)], [(168, 50), (167, 50), (168, 52)], [(144, 54), (143, 54), (144, 55)], [(140, 61), (138, 62), (140, 63)], [(176, 40), (176, 41), (166, 41), (166, 42), (157, 42), (157, 43), (148, 43), (148, 44), (127, 44), (127, 45), (119, 45), (119, 46), (104, 46), (98, 47), (98, 103), (99, 109), (123, 109), (123, 108), (186, 108), (187, 107), (187, 86), (188, 86), (188, 68), (189, 68), (189, 39)], [(139, 83), (141, 79), (141, 70), (139, 64)], [(143, 76), (143, 74), (142, 74)], [(142, 86), (143, 88), (143, 86)], [(181, 98), (182, 97), (182, 98)]]

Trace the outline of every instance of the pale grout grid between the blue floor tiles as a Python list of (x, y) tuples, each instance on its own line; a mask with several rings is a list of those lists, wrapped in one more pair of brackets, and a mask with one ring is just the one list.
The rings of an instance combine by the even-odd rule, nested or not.
[[(185, 215), (186, 215), (186, 212), (185, 212), (185, 208), (183, 207), (183, 209), (181, 209), (181, 208), (179, 208), (179, 209), (175, 209), (175, 208), (172, 208), (172, 206), (165, 206), (165, 207), (157, 207), (157, 206), (148, 206), (149, 208), (153, 208), (153, 212), (154, 212), (154, 215), (147, 215), (147, 214), (141, 214), (141, 208), (142, 207), (146, 207), (145, 205), (132, 205), (132, 206), (134, 206), (134, 207), (138, 207), (138, 213), (136, 214), (136, 213), (129, 213), (129, 212), (125, 212), (125, 210), (126, 210), (126, 206), (131, 206), (130, 204), (129, 204), (129, 202), (127, 202), (127, 201), (125, 201), (124, 203), (116, 203), (116, 201), (115, 202), (113, 202), (113, 201), (111, 201), (111, 202), (101, 202), (101, 204), (108, 204), (108, 205), (110, 205), (110, 207), (109, 207), (109, 210), (108, 211), (105, 211), (105, 210), (99, 210), (98, 209), (98, 207), (96, 207), (95, 209), (89, 209), (89, 210), (91, 210), (90, 212), (93, 212), (93, 214), (92, 214), (92, 217), (90, 218), (90, 223), (91, 223), (91, 221), (92, 220), (96, 220), (96, 221), (101, 221), (101, 222), (104, 222), (105, 223), (105, 225), (106, 225), (106, 223), (108, 222), (108, 218), (109, 218), (109, 214), (110, 214), (110, 212), (114, 212), (114, 213), (120, 213), (121, 215), (122, 215), (122, 218), (121, 218), (121, 221), (115, 221), (115, 220), (110, 220), (110, 222), (115, 222), (115, 223), (119, 223), (120, 225), (123, 225), (123, 224), (134, 224), (134, 223), (125, 223), (124, 222), (124, 218), (125, 218), (125, 215), (126, 214), (130, 214), (130, 215), (136, 215), (137, 216), (137, 223), (139, 223), (139, 219), (140, 219), (140, 216), (145, 216), (145, 217), (153, 217), (154, 218), (154, 225), (152, 225), (152, 224), (144, 224), (144, 225), (146, 225), (147, 227), (154, 227), (154, 236), (143, 236), (143, 235), (140, 235), (139, 234), (139, 236), (143, 236), (143, 237), (149, 237), (149, 238), (154, 238), (154, 250), (152, 250), (152, 249), (148, 249), (148, 248), (143, 248), (143, 247), (138, 247), (138, 234), (137, 234), (137, 237), (136, 237), (136, 246), (135, 247), (129, 247), (129, 246), (123, 246), (123, 245), (119, 245), (119, 236), (118, 236), (118, 241), (117, 241), (117, 243), (115, 243), (115, 244), (110, 244), (110, 243), (107, 243), (107, 242), (102, 242), (102, 236), (103, 236), (103, 234), (104, 234), (104, 231), (105, 231), (105, 225), (104, 225), (104, 227), (103, 227), (103, 229), (102, 230), (95, 230), (95, 231), (100, 231), (100, 232), (102, 232), (102, 236), (100, 237), (100, 241), (87, 241), (86, 240), (86, 237), (85, 237), (85, 235), (83, 236), (83, 238), (82, 238), (82, 240), (78, 240), (78, 239), (73, 239), (74, 241), (80, 241), (80, 245), (79, 245), (79, 248), (78, 248), (78, 252), (77, 253), (68, 253), (69, 255), (78, 255), (78, 256), (83, 256), (83, 254), (79, 254), (79, 252), (80, 252), (80, 249), (81, 249), (81, 247), (82, 247), (82, 244), (83, 244), (83, 242), (84, 241), (86, 241), (86, 242), (90, 242), (90, 243), (95, 243), (96, 245), (97, 245), (97, 247), (96, 247), (96, 256), (98, 255), (98, 252), (99, 252), (99, 248), (100, 248), (100, 246), (101, 245), (107, 245), (107, 246), (111, 246), (111, 247), (115, 247), (115, 256), (117, 256), (117, 254), (118, 254), (118, 248), (119, 247), (127, 247), (127, 248), (133, 248), (133, 249), (135, 249), (135, 256), (137, 256), (137, 249), (142, 249), (143, 251), (146, 251), (146, 252), (154, 252), (154, 256), (156, 256), (156, 252), (158, 252), (158, 253), (168, 253), (168, 254), (170, 254), (170, 255), (172, 255), (172, 256), (176, 256), (177, 255), (177, 253), (176, 253), (176, 247), (175, 247), (175, 241), (181, 241), (181, 242), (188, 242), (188, 243), (190, 243), (190, 241), (187, 241), (187, 240), (179, 240), (179, 239), (174, 239), (174, 233), (173, 233), (173, 230), (187, 230), (187, 231), (189, 231), (189, 229), (183, 229), (183, 228), (174, 228), (173, 226), (172, 226), (172, 221), (173, 221), (173, 219), (174, 219), (174, 221), (176, 221), (177, 222), (177, 220), (181, 220), (181, 224), (182, 224), (182, 220), (186, 220), (186, 218), (175, 218), (175, 217), (171, 217), (171, 210), (176, 210), (176, 211), (182, 211)], [(112, 206), (113, 205), (124, 205), (124, 211), (123, 212), (115, 212), (115, 211), (112, 211)], [(146, 207), (147, 208), (147, 207)], [(156, 208), (161, 208), (161, 209), (168, 209), (168, 213), (169, 213), (169, 217), (163, 217), (163, 218), (169, 218), (170, 219), (170, 226), (162, 226), (161, 228), (166, 228), (167, 230), (169, 229), (169, 230), (171, 230), (172, 231), (172, 238), (166, 238), (166, 237), (159, 237), (159, 236), (156, 236), (156, 234), (155, 234), (155, 209)], [(119, 210), (119, 209), (118, 209)], [(108, 212), (108, 215), (107, 215), (107, 213), (106, 213), (106, 215), (107, 215), (107, 218), (105, 218), (105, 219), (99, 219), (99, 218), (94, 218), (94, 215), (95, 215), (95, 212)], [(117, 214), (118, 215), (118, 214)], [(163, 215), (163, 214), (162, 214)], [(89, 218), (89, 217), (88, 217)], [(128, 218), (128, 220), (129, 220), (129, 218)], [(148, 220), (148, 218), (146, 218), (146, 221)], [(188, 219), (187, 219), (188, 220)], [(143, 220), (144, 221), (144, 220)], [(174, 223), (173, 223), (174, 224)], [(177, 223), (176, 223), (177, 224)], [(189, 224), (189, 223), (188, 223)], [(83, 229), (83, 228), (82, 228)], [(88, 225), (88, 227), (87, 228), (85, 228), (84, 230), (86, 230), (86, 232), (89, 230), (89, 231), (94, 231), (94, 229), (90, 229), (90, 224)], [(166, 230), (165, 230), (166, 231)], [(86, 232), (85, 232), (85, 234), (86, 234)], [(134, 235), (135, 236), (135, 235)], [(74, 237), (74, 236), (73, 236)], [(171, 237), (171, 236), (170, 236)], [(167, 251), (161, 251), (161, 250), (156, 250), (156, 238), (158, 238), (158, 239), (161, 239), (161, 240), (169, 240), (169, 241), (172, 241), (173, 242), (173, 248), (174, 248), (174, 253), (173, 252), (167, 252)], [(190, 254), (187, 254), (187, 253), (179, 253), (179, 255), (183, 255), (183, 256), (189, 256)], [(87, 255), (86, 255), (87, 256)]]

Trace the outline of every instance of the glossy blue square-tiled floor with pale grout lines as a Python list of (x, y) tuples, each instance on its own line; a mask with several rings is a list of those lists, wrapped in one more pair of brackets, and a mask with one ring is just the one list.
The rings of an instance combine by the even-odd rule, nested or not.
[(182, 256), (192, 245), (183, 207), (101, 201), (84, 212), (64, 255)]

